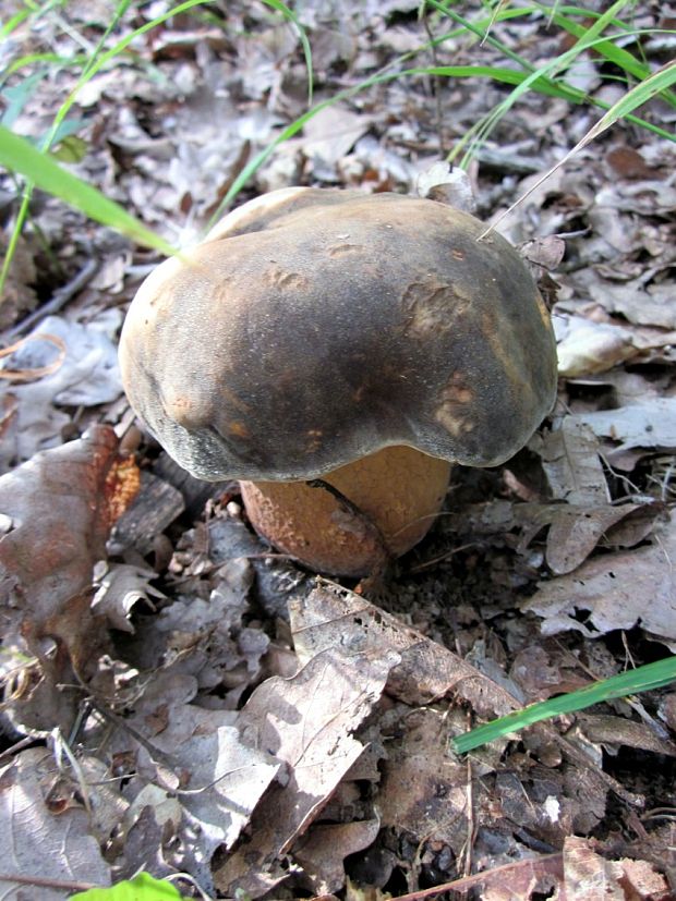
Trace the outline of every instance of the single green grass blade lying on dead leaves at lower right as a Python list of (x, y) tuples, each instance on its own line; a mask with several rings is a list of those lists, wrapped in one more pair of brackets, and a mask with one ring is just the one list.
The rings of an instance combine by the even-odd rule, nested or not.
[(451, 739), (452, 750), (457, 754), (466, 754), (482, 744), (518, 732), (534, 722), (541, 722), (562, 714), (582, 710), (592, 704), (600, 704), (604, 701), (626, 697), (652, 689), (661, 689), (674, 681), (676, 681), (676, 657), (667, 657), (664, 660), (657, 660), (655, 663), (648, 663), (619, 675), (613, 675), (603, 682), (593, 682), (577, 692), (553, 697), (540, 704), (532, 704), (523, 710), (515, 710), (514, 714), (508, 714), (492, 722), (486, 722), (484, 726), (479, 726), (464, 735)]

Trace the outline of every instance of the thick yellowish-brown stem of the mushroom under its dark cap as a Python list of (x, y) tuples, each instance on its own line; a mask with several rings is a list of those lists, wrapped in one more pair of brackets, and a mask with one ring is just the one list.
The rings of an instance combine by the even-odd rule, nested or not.
[[(240, 482), (256, 532), (318, 572), (369, 575), (384, 550), (400, 557), (427, 533), (444, 502), (450, 463), (396, 446), (306, 482)], [(357, 512), (359, 511), (359, 512)]]

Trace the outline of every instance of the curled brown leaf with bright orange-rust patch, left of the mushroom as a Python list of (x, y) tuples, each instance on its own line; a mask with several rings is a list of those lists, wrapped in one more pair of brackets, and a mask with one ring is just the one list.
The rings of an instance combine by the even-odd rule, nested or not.
[[(33, 643), (61, 640), (74, 662), (90, 652), (88, 592), (111, 525), (137, 487), (135, 464), (118, 455), (114, 431), (97, 426), (83, 438), (37, 454), (0, 478), (0, 613), (3, 633)], [(84, 643), (83, 643), (84, 644)]]

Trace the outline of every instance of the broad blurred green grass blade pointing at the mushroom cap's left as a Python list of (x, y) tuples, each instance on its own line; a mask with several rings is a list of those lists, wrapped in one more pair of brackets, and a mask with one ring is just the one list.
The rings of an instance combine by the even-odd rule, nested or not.
[(23, 137), (0, 126), (0, 163), (28, 179), (43, 191), (65, 200), (90, 219), (125, 234), (162, 254), (176, 253), (167, 241), (147, 229), (126, 210), (83, 182)]

